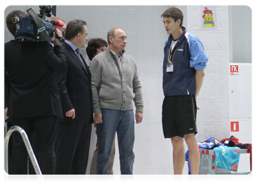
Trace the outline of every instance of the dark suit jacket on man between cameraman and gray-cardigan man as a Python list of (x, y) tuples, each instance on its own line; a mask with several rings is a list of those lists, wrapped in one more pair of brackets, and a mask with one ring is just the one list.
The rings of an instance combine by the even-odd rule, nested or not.
[[(93, 103), (91, 94), (91, 72), (85, 63), (85, 66), (79, 60), (76, 52), (68, 43), (61, 45), (62, 51), (68, 61), (67, 73), (56, 75), (63, 113), (74, 109), (76, 117), (71, 119), (64, 116), (59, 119), (60, 122), (93, 122)], [(81, 56), (83, 59), (83, 57)], [(83, 59), (84, 60), (84, 59)]]

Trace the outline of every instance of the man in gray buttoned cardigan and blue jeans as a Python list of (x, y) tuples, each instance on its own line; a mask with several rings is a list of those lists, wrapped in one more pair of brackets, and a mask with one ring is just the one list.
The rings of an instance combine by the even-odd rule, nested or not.
[(108, 31), (108, 44), (107, 51), (95, 56), (90, 65), (94, 122), (99, 140), (96, 180), (105, 181), (111, 146), (117, 132), (120, 181), (133, 181), (133, 101), (136, 123), (139, 124), (143, 118), (141, 85), (135, 60), (125, 54), (125, 31), (111, 28)]

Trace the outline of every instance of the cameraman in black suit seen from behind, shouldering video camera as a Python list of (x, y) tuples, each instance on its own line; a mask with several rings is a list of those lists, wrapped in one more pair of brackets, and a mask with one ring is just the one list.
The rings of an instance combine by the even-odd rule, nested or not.
[[(6, 17), (7, 28), (13, 36), (16, 32), (15, 18), (19, 14), (19, 11), (11, 11)], [(61, 37), (61, 31), (56, 31)], [(13, 119), (13, 125), (25, 130), (29, 139), (33, 131), (36, 132), (38, 164), (47, 181), (54, 180), (57, 117), (63, 117), (53, 72), (64, 74), (67, 71), (61, 43), (54, 39), (53, 44), (54, 48), (47, 42), (11, 40), (3, 48), (4, 68), (10, 81), (7, 116)], [(26, 180), (28, 153), (18, 132), (13, 133), (13, 142), (13, 180)]]

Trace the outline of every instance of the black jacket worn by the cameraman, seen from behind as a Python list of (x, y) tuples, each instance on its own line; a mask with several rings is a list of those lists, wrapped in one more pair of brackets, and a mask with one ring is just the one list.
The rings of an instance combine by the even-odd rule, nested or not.
[(53, 74), (67, 71), (61, 46), (11, 40), (4, 44), (4, 68), (10, 82), (9, 117), (63, 116)]

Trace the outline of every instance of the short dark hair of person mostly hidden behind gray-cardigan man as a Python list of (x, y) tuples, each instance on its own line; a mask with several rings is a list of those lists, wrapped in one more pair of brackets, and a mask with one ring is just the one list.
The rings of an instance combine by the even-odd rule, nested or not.
[(108, 47), (108, 43), (100, 38), (91, 39), (90, 42), (88, 42), (86, 52), (90, 60), (93, 60), (94, 55), (97, 53), (97, 48), (100, 48), (102, 46)]

